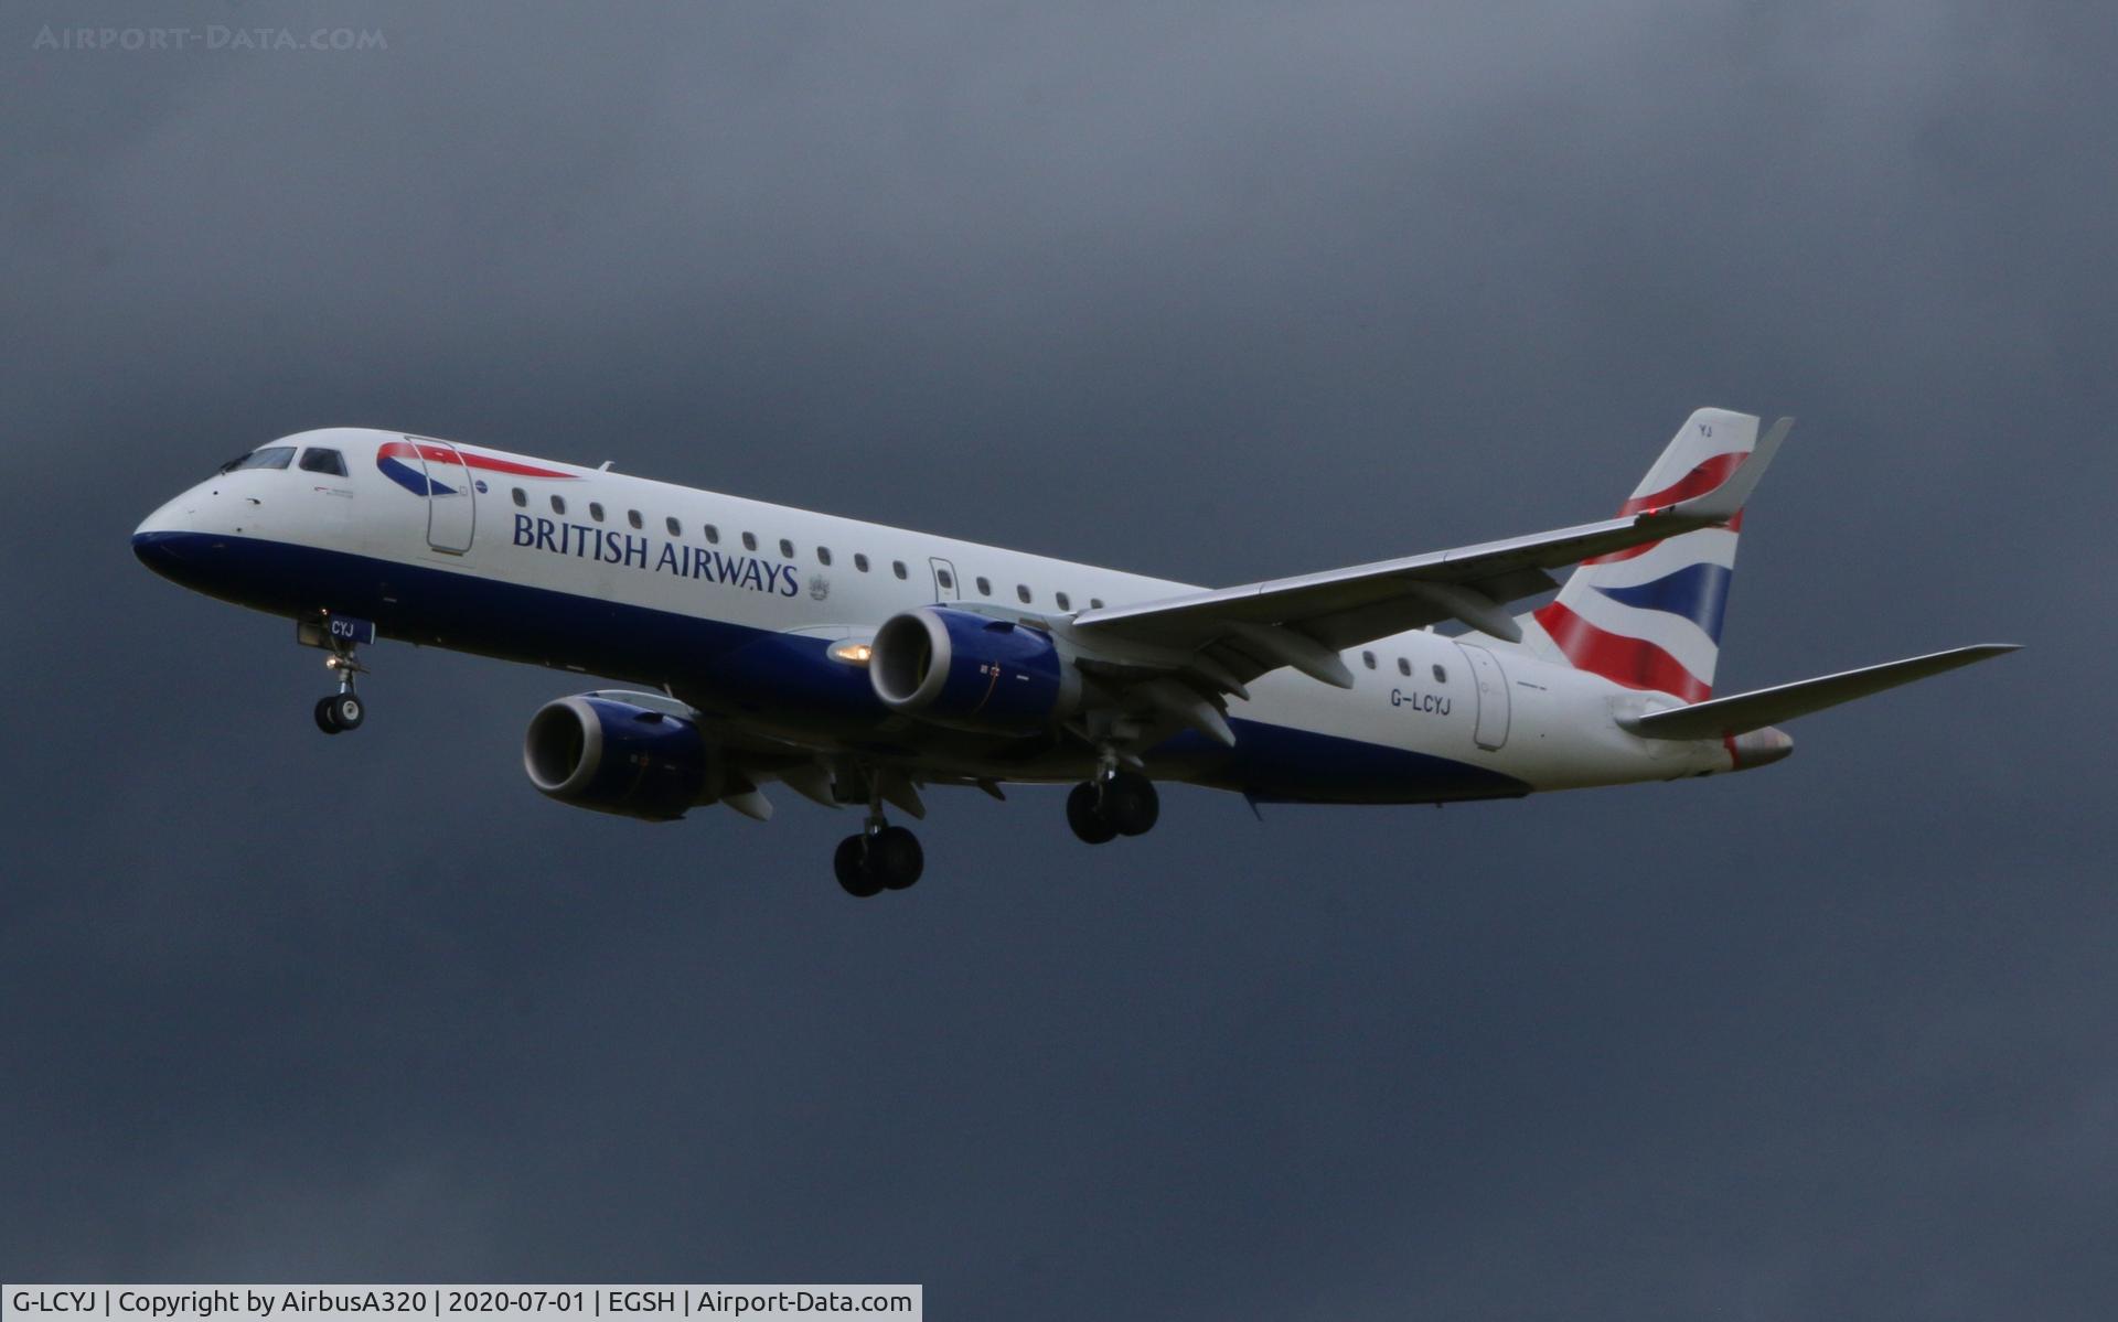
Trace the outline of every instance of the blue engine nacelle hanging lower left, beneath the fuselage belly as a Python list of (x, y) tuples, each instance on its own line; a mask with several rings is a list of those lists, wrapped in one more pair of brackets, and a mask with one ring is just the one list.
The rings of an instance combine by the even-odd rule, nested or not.
[(604, 693), (538, 708), (523, 737), (523, 769), (559, 803), (648, 822), (674, 822), (712, 803), (722, 773), (697, 725)]

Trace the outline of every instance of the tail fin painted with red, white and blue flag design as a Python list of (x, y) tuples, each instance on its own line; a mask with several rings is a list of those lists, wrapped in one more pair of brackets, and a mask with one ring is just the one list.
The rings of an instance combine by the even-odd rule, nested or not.
[[(1749, 458), (1758, 419), (1701, 409), (1618, 517), (1711, 492)], [(1701, 701), (1713, 693), (1722, 610), (1735, 578), (1737, 513), (1661, 542), (1582, 561), (1550, 604), (1521, 617), (1523, 642), (1627, 689)]]

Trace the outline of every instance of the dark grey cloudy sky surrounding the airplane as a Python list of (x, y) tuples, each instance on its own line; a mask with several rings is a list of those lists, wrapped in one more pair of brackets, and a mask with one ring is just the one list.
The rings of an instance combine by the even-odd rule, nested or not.
[[(44, 25), (379, 30), (42, 49)], [(193, 38), (193, 40), (205, 40)], [(2110, 1318), (2095, 6), (0, 6), (0, 1275), (919, 1280), (964, 1318)], [(1720, 682), (2021, 657), (1758, 775), (936, 794), (856, 905), (570, 811), (563, 676), (131, 525), (366, 424), (1197, 583), (1796, 413)]]

